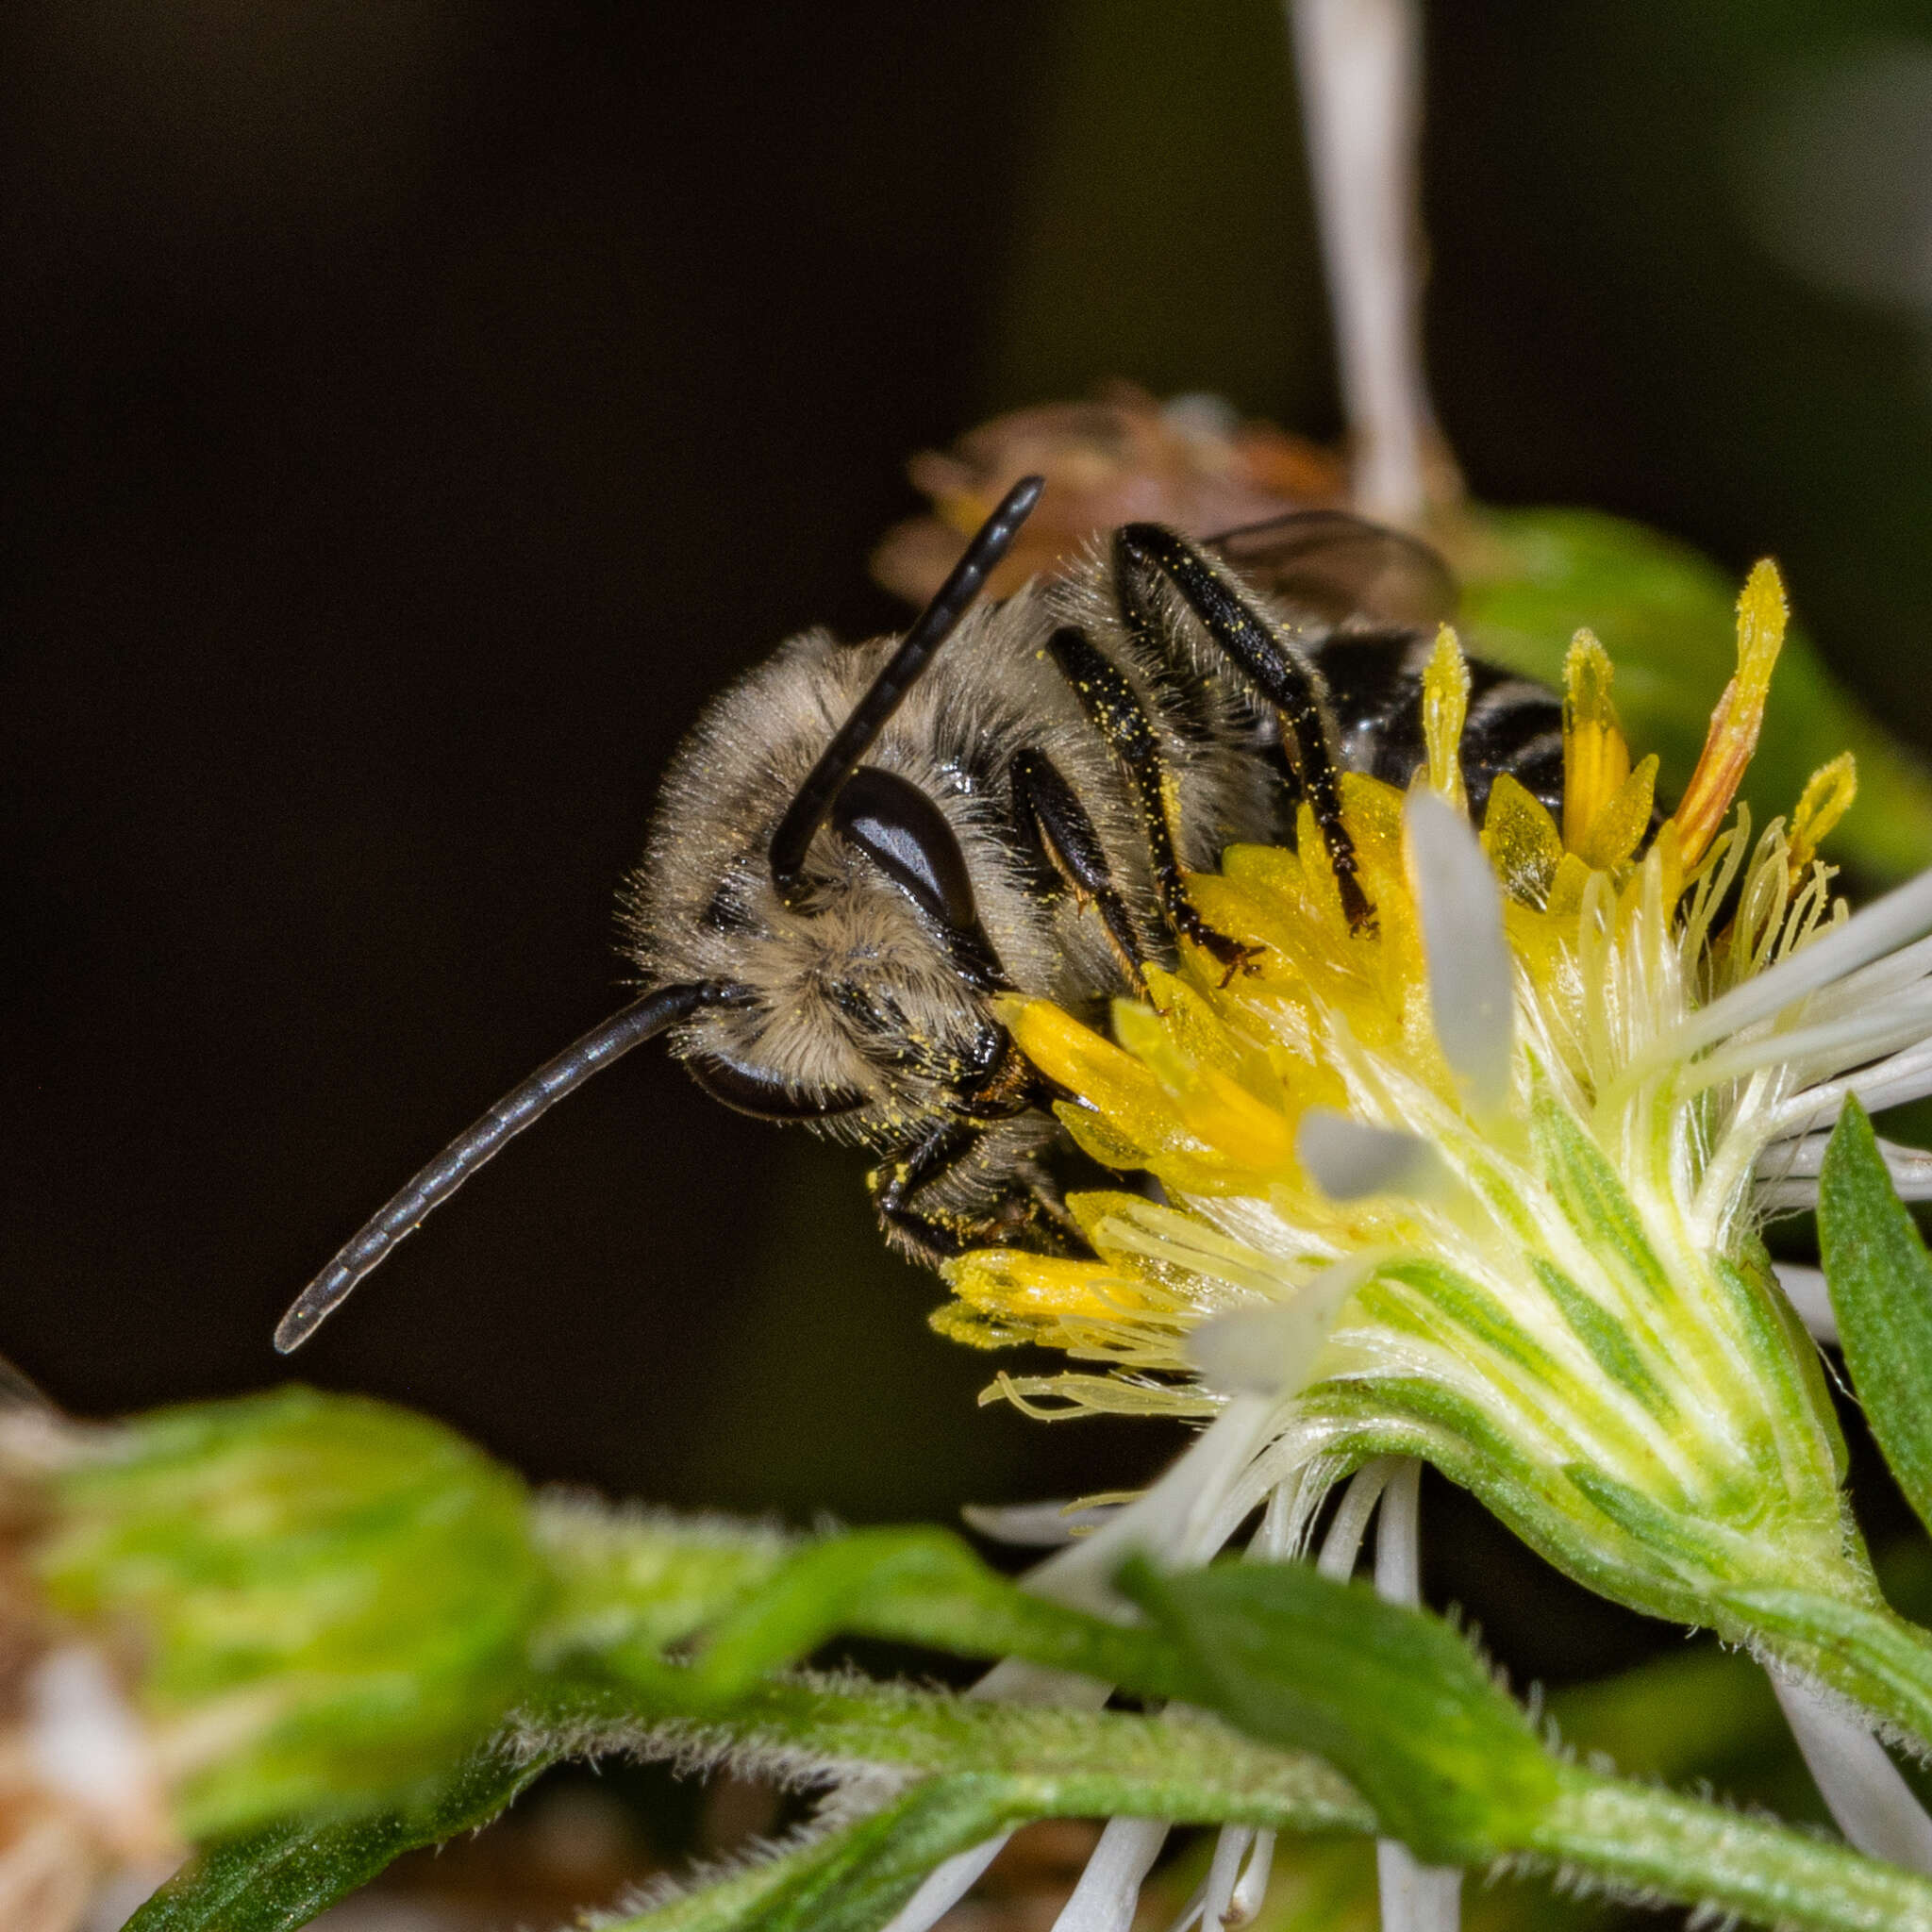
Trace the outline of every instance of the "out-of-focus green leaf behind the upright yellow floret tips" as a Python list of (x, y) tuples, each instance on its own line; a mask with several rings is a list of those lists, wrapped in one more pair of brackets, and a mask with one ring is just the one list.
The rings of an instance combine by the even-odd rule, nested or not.
[[(1739, 585), (1689, 545), (1596, 510), (1482, 510), (1453, 560), (1478, 655), (1561, 688), (1577, 630), (1604, 639), (1633, 750), (1662, 757), (1660, 792), (1675, 798), (1737, 665)], [(1804, 585), (1789, 589), (1803, 612)], [(1839, 752), (1857, 753), (1859, 802), (1833, 850), (1880, 883), (1932, 864), (1932, 777), (1793, 626), (1745, 781), (1758, 823), (1789, 811)]]

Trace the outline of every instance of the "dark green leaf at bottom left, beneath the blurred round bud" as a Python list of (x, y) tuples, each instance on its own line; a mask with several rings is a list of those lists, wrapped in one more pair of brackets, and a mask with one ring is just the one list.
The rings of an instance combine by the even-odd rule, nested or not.
[(551, 1760), (485, 1748), (415, 1804), (276, 1824), (201, 1851), (126, 1932), (294, 1932), (406, 1851), (489, 1824)]

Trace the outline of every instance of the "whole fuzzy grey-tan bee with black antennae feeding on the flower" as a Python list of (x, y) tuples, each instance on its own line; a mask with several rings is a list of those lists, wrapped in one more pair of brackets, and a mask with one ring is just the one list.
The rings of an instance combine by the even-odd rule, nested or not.
[[(276, 1329), (305, 1341), (396, 1242), (564, 1094), (657, 1034), (701, 1088), (867, 1150), (889, 1238), (1078, 1244), (1049, 1155), (1063, 1097), (995, 995), (1094, 1014), (1186, 941), (1188, 896), (1306, 802), (1356, 931), (1376, 920), (1339, 773), (1406, 784), (1455, 583), (1424, 545), (1310, 510), (1194, 545), (1126, 524), (1059, 578), (978, 601), (1041, 491), (1016, 483), (902, 638), (792, 638), (674, 755), (622, 896), (645, 991), (394, 1196)], [(945, 655), (939, 655), (945, 645)], [(1561, 705), (1472, 665), (1472, 810), (1511, 773), (1561, 804)]]

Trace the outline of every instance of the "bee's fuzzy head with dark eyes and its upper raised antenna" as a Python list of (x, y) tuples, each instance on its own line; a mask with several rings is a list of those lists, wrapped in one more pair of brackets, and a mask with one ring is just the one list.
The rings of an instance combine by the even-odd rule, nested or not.
[[(997, 1055), (983, 997), (1007, 978), (980, 923), (960, 802), (906, 746), (867, 753), (1039, 489), (1028, 477), (1007, 493), (856, 697), (840, 692), (858, 659), (808, 634), (726, 692), (672, 765), (626, 910), (651, 981), (740, 989), (672, 1037), (726, 1105), (866, 1138)], [(831, 717), (842, 723), (827, 744)]]

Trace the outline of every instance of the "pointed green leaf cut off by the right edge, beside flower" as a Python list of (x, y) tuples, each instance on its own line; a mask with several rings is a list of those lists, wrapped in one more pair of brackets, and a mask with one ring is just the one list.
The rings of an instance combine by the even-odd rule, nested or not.
[(1845, 1101), (1826, 1148), (1818, 1244), (1872, 1435), (1918, 1520), (1932, 1524), (1932, 1256), (1857, 1099)]

